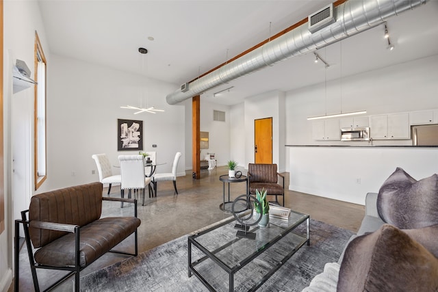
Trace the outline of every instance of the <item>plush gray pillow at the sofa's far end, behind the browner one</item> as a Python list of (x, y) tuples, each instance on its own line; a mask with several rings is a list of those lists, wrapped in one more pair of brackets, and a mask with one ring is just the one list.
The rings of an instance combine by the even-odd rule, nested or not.
[(438, 224), (437, 174), (416, 181), (397, 168), (378, 191), (377, 211), (383, 221), (400, 229)]

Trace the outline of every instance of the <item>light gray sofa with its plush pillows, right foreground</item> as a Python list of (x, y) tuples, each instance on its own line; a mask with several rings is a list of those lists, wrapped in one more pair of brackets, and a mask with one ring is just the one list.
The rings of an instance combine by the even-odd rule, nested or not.
[(438, 291), (438, 174), (402, 168), (365, 198), (365, 217), (337, 263), (303, 292)]

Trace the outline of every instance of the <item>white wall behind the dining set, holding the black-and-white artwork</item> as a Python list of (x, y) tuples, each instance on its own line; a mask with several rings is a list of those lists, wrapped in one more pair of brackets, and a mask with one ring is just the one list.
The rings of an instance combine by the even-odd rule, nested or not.
[[(48, 176), (38, 192), (99, 181), (97, 171), (92, 174), (93, 154), (106, 153), (118, 165), (118, 155), (138, 153), (117, 150), (118, 118), (143, 121), (144, 150), (156, 151), (157, 162), (166, 163), (157, 172), (171, 172), (175, 153), (185, 153), (184, 107), (168, 105), (164, 98), (175, 85), (59, 55), (52, 55), (47, 75)], [(165, 111), (134, 115), (120, 108), (146, 103)], [(179, 175), (185, 174), (184, 160)]]

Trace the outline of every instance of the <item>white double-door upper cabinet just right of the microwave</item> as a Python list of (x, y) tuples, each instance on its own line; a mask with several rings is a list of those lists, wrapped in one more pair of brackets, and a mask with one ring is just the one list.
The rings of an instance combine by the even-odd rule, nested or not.
[(409, 114), (370, 116), (370, 135), (373, 140), (410, 139)]

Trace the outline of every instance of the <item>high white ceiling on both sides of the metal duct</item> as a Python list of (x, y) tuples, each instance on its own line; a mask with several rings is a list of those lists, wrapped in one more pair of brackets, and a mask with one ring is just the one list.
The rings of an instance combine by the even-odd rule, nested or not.
[[(356, 1), (356, 0), (350, 0)], [(368, 0), (367, 0), (368, 1)], [(372, 0), (369, 0), (372, 1)], [(373, 0), (374, 1), (374, 0)], [(153, 79), (182, 83), (246, 51), (309, 14), (327, 0), (150, 1), (38, 0), (49, 51)], [(393, 51), (380, 25), (318, 54), (292, 57), (202, 94), (233, 105), (272, 90), (293, 90), (359, 72), (438, 54), (438, 1), (387, 19)], [(148, 49), (142, 55), (139, 47)], [(213, 96), (225, 88), (229, 92)], [(169, 92), (170, 93), (170, 92)], [(160, 98), (166, 98), (162, 96)]]

